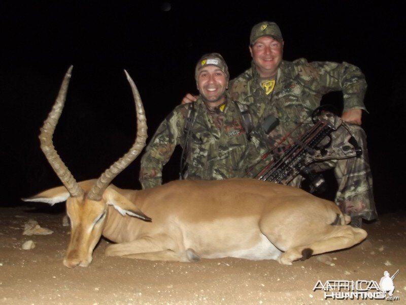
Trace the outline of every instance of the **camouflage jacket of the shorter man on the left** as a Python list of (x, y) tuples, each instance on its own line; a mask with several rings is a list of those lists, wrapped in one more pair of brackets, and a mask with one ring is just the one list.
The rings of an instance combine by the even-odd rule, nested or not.
[[(162, 184), (162, 168), (176, 145), (184, 147), (185, 123), (191, 104), (177, 106), (160, 124), (141, 159), (143, 189)], [(216, 127), (201, 98), (194, 103), (193, 124), (186, 147), (188, 179), (218, 180), (242, 177), (243, 161), (250, 154), (250, 142), (242, 127), (241, 112), (228, 102), (220, 128)]]

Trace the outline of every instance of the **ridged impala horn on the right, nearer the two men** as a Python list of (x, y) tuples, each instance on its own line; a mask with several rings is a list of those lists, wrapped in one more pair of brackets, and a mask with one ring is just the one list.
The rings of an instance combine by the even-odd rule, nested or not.
[(110, 168), (108, 168), (101, 176), (97, 179), (96, 183), (93, 185), (87, 197), (91, 200), (99, 201), (103, 192), (109, 186), (110, 182), (123, 171), (132, 161), (134, 161), (141, 153), (147, 141), (147, 118), (145, 116), (144, 106), (141, 101), (140, 93), (138, 92), (136, 84), (129, 76), (127, 71), (124, 70), (127, 80), (131, 86), (132, 95), (134, 96), (134, 102), (136, 104), (137, 111), (137, 137), (136, 141), (132, 147), (127, 151), (127, 153), (117, 160)]

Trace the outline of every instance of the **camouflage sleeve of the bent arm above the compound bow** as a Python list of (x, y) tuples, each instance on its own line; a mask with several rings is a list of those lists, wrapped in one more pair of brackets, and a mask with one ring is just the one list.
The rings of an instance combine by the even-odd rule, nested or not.
[[(302, 59), (303, 60), (303, 59)], [(303, 78), (315, 76), (318, 79), (322, 94), (331, 91), (342, 91), (344, 110), (363, 109), (366, 92), (365, 76), (361, 70), (349, 63), (342, 64), (333, 62), (304, 62), (298, 66), (298, 72)], [(316, 75), (314, 75), (316, 73)]]

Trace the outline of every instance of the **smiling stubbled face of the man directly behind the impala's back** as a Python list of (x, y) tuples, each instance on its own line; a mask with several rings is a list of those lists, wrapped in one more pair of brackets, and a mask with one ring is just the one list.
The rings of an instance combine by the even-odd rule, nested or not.
[(197, 89), (210, 106), (218, 106), (224, 102), (227, 85), (225, 73), (216, 66), (206, 66), (197, 75)]

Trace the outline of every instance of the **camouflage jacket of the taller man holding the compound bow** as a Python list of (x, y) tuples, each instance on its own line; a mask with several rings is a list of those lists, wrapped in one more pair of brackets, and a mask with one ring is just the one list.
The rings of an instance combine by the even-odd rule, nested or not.
[[(259, 74), (252, 67), (230, 82), (233, 100), (250, 105), (260, 120), (269, 114), (278, 117), (280, 124), (269, 134), (271, 148), (284, 136), (300, 135), (311, 124), (311, 114), (324, 94), (342, 91), (344, 111), (365, 109), (365, 77), (358, 67), (348, 63), (313, 62), (300, 58), (294, 62), (283, 60), (273, 93), (268, 96), (259, 84)], [(304, 122), (304, 125), (298, 125)], [(259, 122), (260, 123), (260, 122)], [(255, 122), (254, 122), (255, 124)]]

